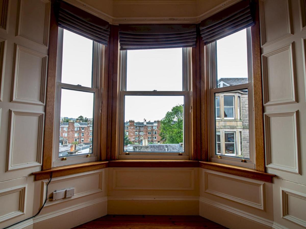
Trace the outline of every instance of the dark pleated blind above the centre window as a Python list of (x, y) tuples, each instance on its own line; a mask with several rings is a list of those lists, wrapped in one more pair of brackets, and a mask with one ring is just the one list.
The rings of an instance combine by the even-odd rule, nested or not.
[(119, 25), (120, 50), (196, 46), (195, 24)]

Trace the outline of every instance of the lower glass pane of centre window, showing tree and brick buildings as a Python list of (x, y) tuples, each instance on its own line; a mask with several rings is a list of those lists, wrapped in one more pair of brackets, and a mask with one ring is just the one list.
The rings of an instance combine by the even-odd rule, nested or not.
[(125, 96), (124, 119), (124, 151), (184, 152), (184, 96)]

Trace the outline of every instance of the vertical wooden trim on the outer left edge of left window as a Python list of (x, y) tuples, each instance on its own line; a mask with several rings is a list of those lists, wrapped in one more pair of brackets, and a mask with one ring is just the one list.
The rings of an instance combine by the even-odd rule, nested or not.
[[(43, 165), (42, 170), (52, 167), (53, 128), (54, 128), (54, 106), (56, 87), (56, 62), (58, 50), (58, 25), (54, 12), (54, 2), (51, 2), (48, 71), (46, 85), (45, 125), (43, 139)], [(52, 138), (52, 139), (51, 139)], [(51, 139), (51, 140), (50, 140)]]

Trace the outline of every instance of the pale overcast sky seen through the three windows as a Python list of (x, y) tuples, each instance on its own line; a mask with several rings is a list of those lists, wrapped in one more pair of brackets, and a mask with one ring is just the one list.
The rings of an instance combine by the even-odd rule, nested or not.
[[(181, 91), (182, 49), (129, 50), (127, 90)], [(217, 42), (218, 78), (247, 77), (246, 30)], [(64, 30), (62, 82), (91, 87), (92, 41)], [(126, 96), (125, 121), (162, 119), (183, 96)], [(62, 90), (61, 116), (92, 118), (93, 94)]]

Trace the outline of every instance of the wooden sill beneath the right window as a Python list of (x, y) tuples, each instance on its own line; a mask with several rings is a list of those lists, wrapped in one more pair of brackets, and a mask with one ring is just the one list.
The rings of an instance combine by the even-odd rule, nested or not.
[(203, 169), (218, 171), (221, 173), (228, 173), (236, 176), (243, 176), (255, 180), (261, 180), (269, 183), (273, 183), (272, 178), (275, 177), (274, 174), (263, 173), (257, 171), (256, 169), (248, 169), (240, 166), (227, 165), (216, 162), (199, 162), (199, 167)]

